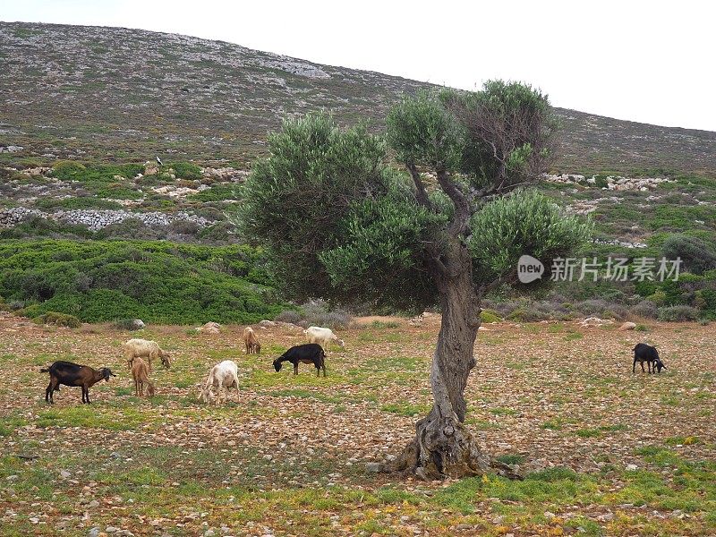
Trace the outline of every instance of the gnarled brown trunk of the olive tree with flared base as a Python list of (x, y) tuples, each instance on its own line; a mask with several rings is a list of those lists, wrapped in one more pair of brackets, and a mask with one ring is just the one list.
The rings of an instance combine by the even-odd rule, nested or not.
[(423, 480), (479, 475), (490, 469), (518, 477), (507, 465), (483, 454), (465, 427), (465, 386), (475, 366), (473, 349), (481, 310), (469, 252), (460, 244), (452, 253), (447, 271), (435, 275), (442, 325), (430, 371), (434, 404), (415, 424), (413, 441), (386, 470), (414, 473)]

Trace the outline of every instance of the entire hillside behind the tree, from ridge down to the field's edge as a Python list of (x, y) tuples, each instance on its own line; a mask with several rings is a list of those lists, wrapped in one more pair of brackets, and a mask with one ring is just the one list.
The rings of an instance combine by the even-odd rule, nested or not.
[[(267, 132), (320, 108), (379, 130), (400, 93), (424, 86), (198, 38), (24, 23), (0, 24), (0, 62), (0, 308), (87, 321), (276, 315), (260, 250), (232, 261), (247, 242), (243, 181)], [(540, 188), (592, 217), (595, 241), (579, 255), (660, 258), (686, 234), (676, 252), (706, 273), (663, 288), (578, 282), (490, 307), (515, 320), (716, 318), (716, 133), (558, 114), (566, 173)]]

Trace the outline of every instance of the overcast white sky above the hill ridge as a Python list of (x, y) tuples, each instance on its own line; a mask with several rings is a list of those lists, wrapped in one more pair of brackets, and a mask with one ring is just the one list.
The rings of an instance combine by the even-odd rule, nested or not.
[(557, 107), (716, 131), (710, 0), (0, 0), (0, 20), (176, 32), (467, 90), (528, 81)]

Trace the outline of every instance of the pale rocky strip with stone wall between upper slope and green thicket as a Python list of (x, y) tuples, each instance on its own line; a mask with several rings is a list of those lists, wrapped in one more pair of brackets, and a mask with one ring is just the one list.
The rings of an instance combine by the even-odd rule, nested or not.
[(112, 182), (97, 185), (57, 178), (52, 167), (4, 166), (0, 169), (0, 230), (29, 221), (38, 227), (40, 219), (51, 222), (57, 232), (76, 233), (79, 227), (93, 233), (109, 228), (107, 234), (121, 236), (123, 223), (132, 220), (149, 230), (196, 234), (226, 221), (226, 213), (235, 209), (238, 186), (248, 174), (227, 166), (201, 167), (198, 179), (176, 177), (173, 172), (171, 166), (159, 171), (147, 163), (143, 173), (115, 175)]

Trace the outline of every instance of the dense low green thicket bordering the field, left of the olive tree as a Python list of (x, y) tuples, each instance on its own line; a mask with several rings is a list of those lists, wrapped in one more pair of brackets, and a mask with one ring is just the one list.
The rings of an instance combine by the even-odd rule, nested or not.
[(251, 323), (286, 309), (266, 286), (261, 255), (238, 245), (11, 240), (0, 243), (0, 294), (28, 303), (30, 318)]

